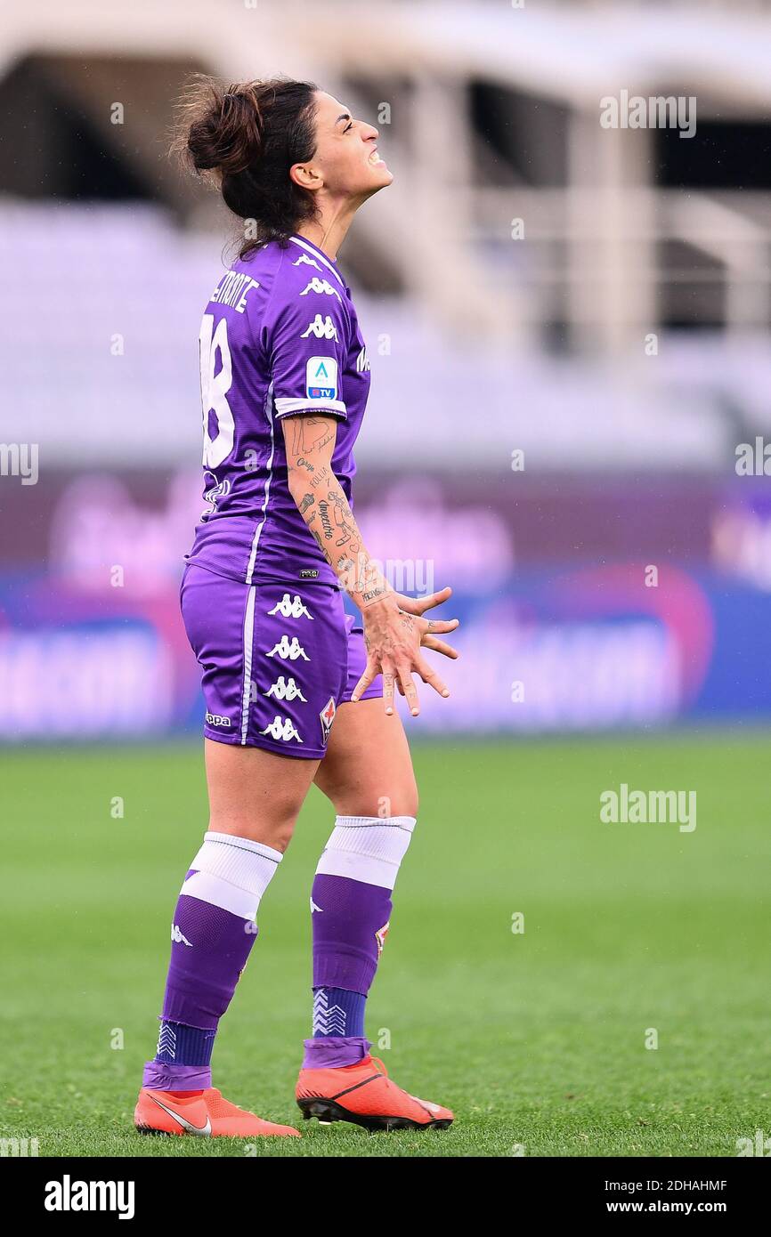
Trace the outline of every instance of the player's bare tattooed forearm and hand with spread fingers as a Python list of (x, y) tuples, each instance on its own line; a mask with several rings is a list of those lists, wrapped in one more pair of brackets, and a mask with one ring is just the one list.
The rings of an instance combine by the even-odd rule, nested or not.
[(311, 536), (327, 558), (340, 585), (361, 611), (368, 652), (366, 670), (356, 684), (358, 700), (382, 673), (382, 698), (387, 714), (394, 713), (395, 688), (403, 694), (413, 716), (420, 713), (415, 672), (439, 695), (449, 691), (421, 654), (421, 644), (447, 657), (457, 657), (437, 632), (449, 632), (458, 620), (422, 617), (424, 610), (441, 605), (449, 589), (415, 601), (395, 593), (370, 558), (340, 482), (332, 471), (337, 435), (334, 417), (298, 416), (282, 422), (290, 494)]

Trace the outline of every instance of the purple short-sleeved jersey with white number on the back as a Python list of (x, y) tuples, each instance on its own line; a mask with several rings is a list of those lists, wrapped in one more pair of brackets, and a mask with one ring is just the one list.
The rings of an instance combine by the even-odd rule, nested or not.
[(337, 576), (287, 482), (280, 421), (338, 421), (332, 469), (351, 502), (366, 349), (337, 263), (302, 236), (234, 262), (200, 325), (204, 511), (188, 562), (244, 584)]

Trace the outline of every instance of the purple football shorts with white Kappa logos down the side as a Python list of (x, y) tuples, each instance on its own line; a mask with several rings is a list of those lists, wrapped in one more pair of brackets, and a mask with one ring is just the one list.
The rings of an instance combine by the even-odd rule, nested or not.
[[(207, 738), (321, 760), (364, 673), (364, 633), (332, 584), (241, 584), (188, 564), (179, 589), (203, 670)], [(380, 677), (363, 699), (382, 695)]]

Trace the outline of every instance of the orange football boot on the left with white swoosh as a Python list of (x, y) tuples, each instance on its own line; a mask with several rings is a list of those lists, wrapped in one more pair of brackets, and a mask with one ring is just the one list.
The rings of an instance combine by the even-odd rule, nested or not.
[(255, 1138), (283, 1136), (299, 1138), (292, 1126), (276, 1126), (254, 1112), (236, 1107), (214, 1087), (179, 1095), (142, 1087), (134, 1111), (140, 1134), (194, 1134), (198, 1138)]

